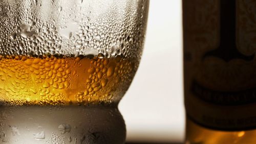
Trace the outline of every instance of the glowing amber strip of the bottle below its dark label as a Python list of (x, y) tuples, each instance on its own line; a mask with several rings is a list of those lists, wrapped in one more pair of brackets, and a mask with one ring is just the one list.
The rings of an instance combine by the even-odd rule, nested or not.
[(219, 131), (204, 128), (186, 119), (185, 144), (254, 144), (256, 130)]

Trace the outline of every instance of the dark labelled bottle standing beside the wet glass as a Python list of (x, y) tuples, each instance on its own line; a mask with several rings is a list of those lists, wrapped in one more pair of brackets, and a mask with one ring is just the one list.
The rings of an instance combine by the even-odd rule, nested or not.
[(255, 9), (183, 0), (186, 143), (255, 143)]

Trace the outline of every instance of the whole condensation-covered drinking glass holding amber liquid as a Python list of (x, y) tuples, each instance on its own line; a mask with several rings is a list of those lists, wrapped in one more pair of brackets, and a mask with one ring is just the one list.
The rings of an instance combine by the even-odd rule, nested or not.
[(0, 143), (124, 143), (148, 1), (0, 1)]

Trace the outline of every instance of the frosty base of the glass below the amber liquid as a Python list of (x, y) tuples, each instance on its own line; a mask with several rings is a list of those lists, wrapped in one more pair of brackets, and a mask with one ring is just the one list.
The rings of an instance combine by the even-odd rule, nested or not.
[(116, 107), (0, 106), (0, 143), (124, 143)]

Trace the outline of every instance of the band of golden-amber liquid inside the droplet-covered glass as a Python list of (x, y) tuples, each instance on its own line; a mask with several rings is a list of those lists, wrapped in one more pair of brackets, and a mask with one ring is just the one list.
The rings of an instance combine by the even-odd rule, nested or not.
[(122, 57), (0, 57), (0, 102), (10, 105), (118, 103), (136, 69), (135, 61)]

